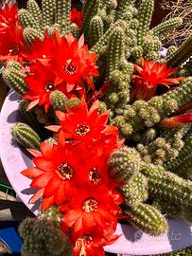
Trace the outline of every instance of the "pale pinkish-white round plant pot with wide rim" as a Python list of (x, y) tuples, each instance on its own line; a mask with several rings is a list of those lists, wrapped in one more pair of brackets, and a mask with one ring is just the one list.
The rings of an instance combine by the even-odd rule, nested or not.
[[(19, 98), (15, 93), (10, 92), (7, 97), (0, 116), (0, 156), (9, 182), (18, 193), (26, 207), (38, 213), (40, 204), (29, 205), (28, 201), (34, 190), (29, 188), (30, 180), (20, 174), (26, 168), (32, 166), (31, 158), (11, 137), (11, 126), (20, 121), (18, 102)], [(169, 230), (159, 237), (152, 237), (148, 234), (134, 229), (130, 225), (120, 225), (116, 229), (121, 234), (119, 239), (105, 250), (113, 253), (148, 255), (166, 253), (178, 250), (183, 247), (192, 246), (192, 225), (183, 220), (168, 220)]]

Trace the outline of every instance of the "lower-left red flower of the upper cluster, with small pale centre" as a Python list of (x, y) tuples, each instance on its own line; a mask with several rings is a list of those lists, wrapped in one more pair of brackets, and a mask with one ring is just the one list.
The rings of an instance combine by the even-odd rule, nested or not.
[(37, 61), (30, 68), (30, 74), (26, 76), (25, 81), (28, 85), (28, 91), (24, 95), (24, 99), (30, 100), (28, 109), (35, 105), (44, 105), (47, 113), (50, 106), (50, 93), (59, 90), (65, 93), (64, 86), (55, 85), (56, 74), (54, 69), (49, 65), (41, 64)]

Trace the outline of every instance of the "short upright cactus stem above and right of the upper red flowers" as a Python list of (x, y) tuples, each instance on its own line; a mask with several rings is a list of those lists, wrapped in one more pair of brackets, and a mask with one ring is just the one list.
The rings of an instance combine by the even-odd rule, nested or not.
[(92, 18), (89, 27), (90, 47), (95, 46), (104, 33), (104, 24), (100, 16)]

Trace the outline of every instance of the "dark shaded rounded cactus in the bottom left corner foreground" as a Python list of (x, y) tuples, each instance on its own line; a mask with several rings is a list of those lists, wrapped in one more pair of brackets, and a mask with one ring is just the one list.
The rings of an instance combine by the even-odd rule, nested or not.
[(24, 239), (24, 255), (49, 256), (54, 253), (56, 256), (72, 256), (72, 248), (66, 235), (46, 219), (26, 218), (19, 232)]

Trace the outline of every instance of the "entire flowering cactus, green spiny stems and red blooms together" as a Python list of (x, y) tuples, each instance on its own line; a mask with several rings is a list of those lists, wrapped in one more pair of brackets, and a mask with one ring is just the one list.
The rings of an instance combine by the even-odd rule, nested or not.
[[(151, 236), (166, 233), (167, 217), (192, 222), (192, 37), (161, 58), (161, 35), (182, 19), (149, 29), (153, 9), (154, 0), (1, 9), (2, 75), (19, 96), (2, 117), (20, 111), (11, 136), (30, 156), (25, 170), (13, 164), (32, 179), (29, 204), (40, 202), (20, 228), (24, 255), (104, 255), (118, 222)], [(10, 179), (22, 194), (23, 181)]]

